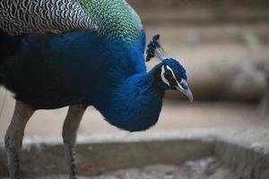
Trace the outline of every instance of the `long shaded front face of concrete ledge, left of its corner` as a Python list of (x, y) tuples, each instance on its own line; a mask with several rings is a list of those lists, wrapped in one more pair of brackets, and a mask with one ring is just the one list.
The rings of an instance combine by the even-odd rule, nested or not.
[[(99, 175), (104, 172), (153, 164), (180, 164), (189, 159), (213, 155), (213, 142), (131, 141), (88, 143), (77, 146), (77, 171), (80, 175)], [(0, 150), (0, 176), (7, 175), (4, 149)], [(22, 151), (22, 174), (27, 177), (46, 174), (66, 174), (62, 145), (30, 145)]]

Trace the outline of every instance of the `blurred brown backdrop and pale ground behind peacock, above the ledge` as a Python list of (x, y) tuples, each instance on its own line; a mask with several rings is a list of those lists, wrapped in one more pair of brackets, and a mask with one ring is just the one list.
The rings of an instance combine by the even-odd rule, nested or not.
[[(148, 40), (187, 68), (195, 102), (167, 92), (160, 121), (147, 132), (186, 128), (269, 127), (268, 0), (128, 0)], [(148, 69), (158, 60), (148, 63)], [(13, 114), (12, 94), (0, 89), (0, 140)], [(67, 108), (38, 111), (27, 125), (32, 138), (61, 136)], [(79, 135), (121, 133), (89, 107)]]

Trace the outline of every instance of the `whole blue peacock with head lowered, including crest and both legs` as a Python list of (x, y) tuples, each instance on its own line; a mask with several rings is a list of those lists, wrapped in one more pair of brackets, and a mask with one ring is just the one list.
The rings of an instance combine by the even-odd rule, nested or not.
[(76, 178), (74, 147), (87, 107), (128, 132), (156, 124), (165, 90), (191, 101), (187, 72), (166, 55), (160, 36), (146, 33), (125, 0), (1, 0), (0, 85), (16, 104), (5, 138), (10, 177), (20, 178), (24, 128), (39, 109), (69, 107), (63, 141), (69, 177)]

